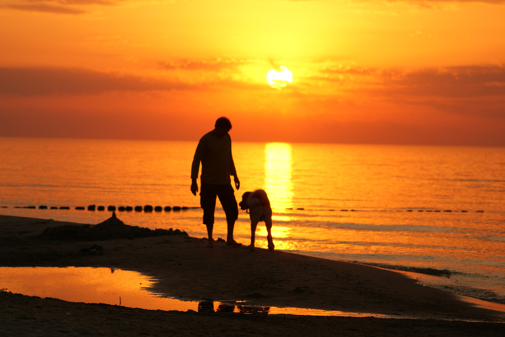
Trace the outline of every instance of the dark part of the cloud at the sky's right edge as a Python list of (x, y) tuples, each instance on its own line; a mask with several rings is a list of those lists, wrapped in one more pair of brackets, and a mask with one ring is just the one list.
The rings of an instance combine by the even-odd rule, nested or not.
[(460, 115), (505, 117), (505, 67), (463, 66), (389, 71), (369, 94), (451, 111)]

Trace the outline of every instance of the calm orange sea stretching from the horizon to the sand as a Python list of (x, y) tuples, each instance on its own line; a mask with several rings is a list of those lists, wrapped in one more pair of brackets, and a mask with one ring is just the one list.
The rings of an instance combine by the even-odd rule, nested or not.
[[(116, 214), (206, 237), (190, 192), (196, 145), (0, 137), (0, 214), (96, 224), (111, 216), (108, 206), (180, 206), (188, 208)], [(505, 303), (505, 147), (233, 142), (232, 151), (237, 200), (269, 195), (276, 249), (408, 271), (425, 286)], [(262, 224), (257, 247), (267, 246)], [(245, 211), (234, 234), (249, 243)], [(218, 237), (226, 238), (219, 201)]]

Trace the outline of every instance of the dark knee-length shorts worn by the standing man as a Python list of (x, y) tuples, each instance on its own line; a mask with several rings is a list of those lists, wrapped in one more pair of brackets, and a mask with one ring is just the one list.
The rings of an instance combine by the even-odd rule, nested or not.
[(226, 220), (236, 220), (238, 218), (238, 206), (235, 199), (235, 191), (233, 191), (231, 184), (216, 185), (201, 183), (200, 207), (204, 209), (204, 224), (214, 223), (216, 196), (223, 206)]

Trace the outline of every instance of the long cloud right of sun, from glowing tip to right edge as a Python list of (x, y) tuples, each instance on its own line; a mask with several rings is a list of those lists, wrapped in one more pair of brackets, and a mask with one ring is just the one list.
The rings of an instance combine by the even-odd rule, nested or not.
[[(396, 102), (458, 115), (505, 117), (505, 67), (326, 67), (311, 79), (352, 99)], [(429, 108), (427, 110), (429, 110)]]

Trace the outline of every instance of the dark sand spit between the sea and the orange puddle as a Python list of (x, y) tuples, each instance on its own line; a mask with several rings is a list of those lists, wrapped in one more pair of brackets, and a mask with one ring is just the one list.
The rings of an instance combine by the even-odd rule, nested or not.
[[(218, 242), (208, 249), (207, 239), (187, 236), (89, 242), (35, 237), (47, 227), (62, 224), (75, 223), (0, 215), (0, 266), (134, 270), (158, 280), (153, 292), (180, 300), (247, 300), (251, 306), (505, 322), (504, 312), (479, 308), (456, 294), (420, 286), (398, 271), (363, 264), (275, 250), (249, 252), (245, 246), (227, 247)], [(79, 253), (92, 244), (102, 246), (103, 254)], [(257, 295), (251, 298), (251, 294)]]

